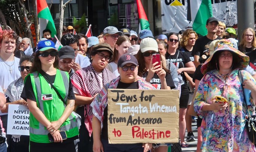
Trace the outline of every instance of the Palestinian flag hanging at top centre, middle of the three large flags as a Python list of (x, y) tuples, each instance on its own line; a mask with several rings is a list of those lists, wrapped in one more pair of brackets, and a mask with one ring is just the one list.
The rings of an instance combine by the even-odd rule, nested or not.
[(144, 11), (142, 3), (140, 0), (136, 0), (136, 2), (137, 2), (137, 8), (138, 8), (138, 13), (139, 13), (139, 18), (140, 18), (139, 29), (140, 30), (144, 30), (144, 29), (149, 30), (148, 18)]

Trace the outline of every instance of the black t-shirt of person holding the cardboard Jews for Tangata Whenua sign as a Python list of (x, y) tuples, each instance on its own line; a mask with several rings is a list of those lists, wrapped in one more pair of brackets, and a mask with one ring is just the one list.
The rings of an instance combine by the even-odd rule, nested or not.
[[(126, 84), (121, 81), (118, 82), (117, 89), (139, 89), (138, 82)], [(104, 109), (103, 128), (101, 133), (102, 139), (108, 140), (108, 106)]]

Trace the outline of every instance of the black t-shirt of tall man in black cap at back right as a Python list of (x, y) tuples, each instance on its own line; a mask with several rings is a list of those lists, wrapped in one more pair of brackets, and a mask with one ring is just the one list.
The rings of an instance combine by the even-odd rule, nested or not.
[[(215, 40), (221, 40), (221, 37), (217, 37)], [(192, 50), (192, 55), (198, 55), (202, 56), (206, 52), (209, 52), (209, 45), (213, 40), (210, 40), (207, 38), (207, 36), (203, 36), (201, 38), (198, 38), (195, 42), (194, 49)]]

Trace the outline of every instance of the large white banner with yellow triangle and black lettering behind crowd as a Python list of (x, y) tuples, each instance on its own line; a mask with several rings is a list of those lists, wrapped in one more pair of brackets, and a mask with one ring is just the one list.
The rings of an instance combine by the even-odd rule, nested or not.
[[(202, 0), (161, 0), (162, 30), (163, 33), (192, 29), (193, 17), (197, 14), (192, 6)], [(234, 26), (237, 21), (236, 0), (212, 1), (212, 14), (226, 24)]]

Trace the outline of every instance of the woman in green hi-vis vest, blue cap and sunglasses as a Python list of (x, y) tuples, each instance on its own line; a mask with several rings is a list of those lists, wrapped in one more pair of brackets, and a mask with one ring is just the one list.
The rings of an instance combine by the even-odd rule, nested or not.
[(30, 110), (30, 152), (76, 151), (79, 125), (72, 113), (75, 95), (69, 74), (56, 68), (57, 55), (52, 41), (40, 41), (24, 81), (21, 97), (27, 100)]

